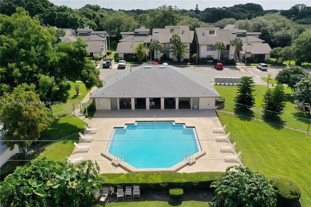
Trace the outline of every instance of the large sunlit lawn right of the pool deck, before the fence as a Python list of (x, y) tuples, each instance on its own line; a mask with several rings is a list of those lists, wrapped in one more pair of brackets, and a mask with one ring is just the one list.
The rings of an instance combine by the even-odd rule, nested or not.
[(303, 206), (311, 206), (311, 137), (304, 132), (277, 127), (233, 114), (217, 112), (236, 151), (242, 151), (242, 163), (269, 179), (284, 175), (302, 189)]

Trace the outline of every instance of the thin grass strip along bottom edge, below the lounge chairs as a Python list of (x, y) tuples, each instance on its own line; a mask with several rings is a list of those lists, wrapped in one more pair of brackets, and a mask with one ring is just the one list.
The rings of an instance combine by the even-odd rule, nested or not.
[[(166, 201), (136, 201), (136, 202), (118, 202), (109, 203), (109, 207), (211, 207), (203, 201), (180, 201), (180, 202), (166, 202)], [(99, 205), (98, 205), (99, 207)]]

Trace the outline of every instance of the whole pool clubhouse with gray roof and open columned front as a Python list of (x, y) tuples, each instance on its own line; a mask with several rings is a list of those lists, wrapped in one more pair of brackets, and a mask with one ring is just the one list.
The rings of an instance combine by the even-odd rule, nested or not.
[(169, 65), (117, 70), (91, 95), (96, 110), (214, 109), (218, 97), (202, 73)]

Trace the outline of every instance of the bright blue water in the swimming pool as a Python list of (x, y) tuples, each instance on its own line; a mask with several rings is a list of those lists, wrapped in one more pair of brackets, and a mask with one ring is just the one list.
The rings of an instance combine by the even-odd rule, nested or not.
[(115, 128), (107, 151), (120, 154), (135, 168), (170, 168), (183, 161), (183, 155), (200, 151), (194, 128), (174, 122), (136, 122)]

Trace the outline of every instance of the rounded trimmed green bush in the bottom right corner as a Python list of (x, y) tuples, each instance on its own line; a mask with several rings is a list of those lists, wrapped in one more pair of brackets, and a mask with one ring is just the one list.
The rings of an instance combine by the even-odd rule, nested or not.
[(299, 201), (301, 196), (300, 186), (289, 177), (276, 175), (271, 178), (270, 184), (276, 190), (277, 201), (282, 204), (291, 204)]

